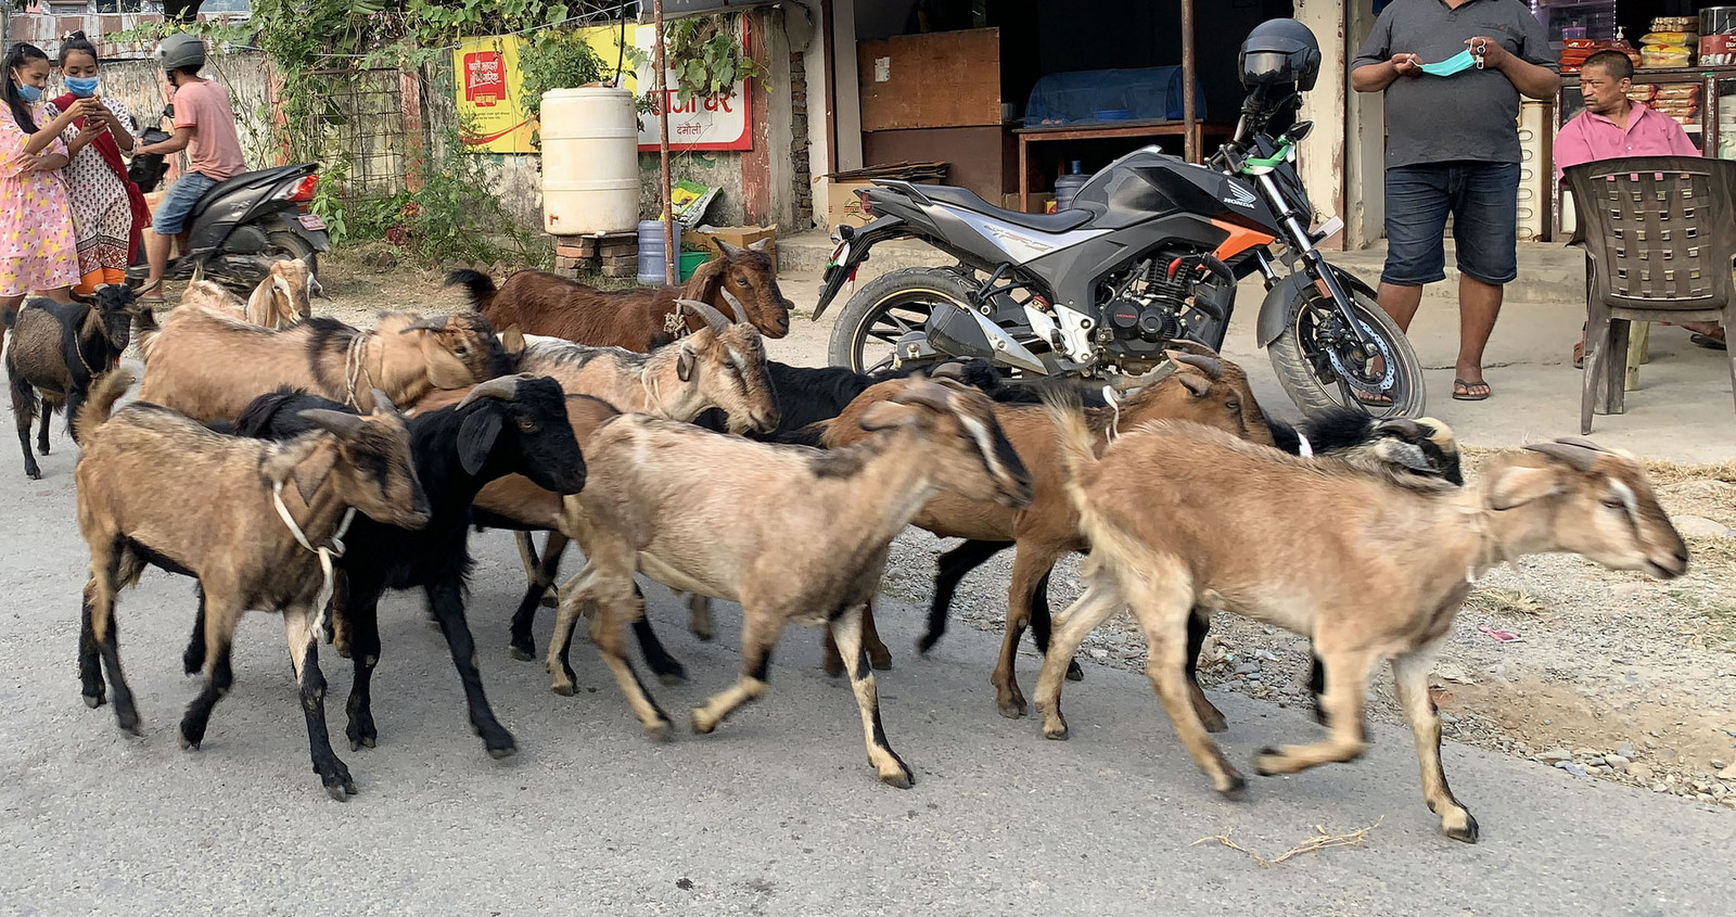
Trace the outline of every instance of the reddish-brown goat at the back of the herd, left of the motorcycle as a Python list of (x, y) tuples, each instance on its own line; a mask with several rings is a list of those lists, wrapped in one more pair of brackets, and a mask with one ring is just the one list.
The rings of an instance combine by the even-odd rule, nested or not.
[(453, 271), (446, 285), (469, 290), (470, 304), (495, 327), (517, 325), (524, 333), (597, 347), (646, 353), (677, 333), (698, 332), (705, 327), (700, 316), (687, 314), (682, 323), (681, 299), (731, 313), (766, 337), (790, 333), (792, 302), (778, 288), (771, 255), (759, 241), (719, 247), (724, 257), (701, 264), (684, 287), (597, 290), (545, 271), (517, 271), (498, 290), (488, 274)]

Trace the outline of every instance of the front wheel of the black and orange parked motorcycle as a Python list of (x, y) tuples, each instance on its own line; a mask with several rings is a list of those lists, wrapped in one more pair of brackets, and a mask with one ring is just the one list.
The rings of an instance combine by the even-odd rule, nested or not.
[(1427, 391), (1410, 339), (1368, 294), (1345, 287), (1373, 353), (1354, 344), (1330, 299), (1304, 287), (1285, 332), (1266, 347), (1285, 394), (1304, 412), (1345, 406), (1371, 417), (1420, 417)]

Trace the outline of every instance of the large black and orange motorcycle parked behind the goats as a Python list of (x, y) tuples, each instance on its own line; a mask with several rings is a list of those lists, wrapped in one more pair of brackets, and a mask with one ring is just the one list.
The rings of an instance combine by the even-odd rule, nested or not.
[(920, 238), (958, 264), (866, 283), (838, 314), (832, 363), (871, 372), (983, 358), (1014, 380), (1132, 384), (1160, 370), (1167, 349), (1222, 349), (1236, 283), (1259, 273), (1255, 339), (1299, 408), (1420, 415), (1424, 379), (1410, 340), (1375, 290), (1318, 248), (1342, 221), (1309, 229), (1295, 162), (1312, 123), (1267, 132), (1299, 102), (1299, 92), (1255, 87), (1234, 137), (1207, 165), (1147, 146), (1097, 172), (1059, 214), (1003, 210), (963, 188), (875, 181), (863, 201), (870, 222), (833, 229), (814, 320), (882, 241)]

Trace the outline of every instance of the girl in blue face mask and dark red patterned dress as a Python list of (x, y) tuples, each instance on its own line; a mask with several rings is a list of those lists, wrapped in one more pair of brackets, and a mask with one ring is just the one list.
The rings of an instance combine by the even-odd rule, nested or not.
[(134, 146), (134, 120), (120, 99), (97, 94), (97, 49), (75, 31), (61, 42), (61, 82), (66, 94), (43, 104), (47, 116), (80, 101), (99, 108), (73, 122), (78, 135), (66, 142), (71, 162), (62, 170), (78, 241), (76, 294), (94, 294), (104, 283), (127, 283), (127, 266), (139, 254), (139, 229), (151, 221), (144, 195), (127, 177), (122, 153)]

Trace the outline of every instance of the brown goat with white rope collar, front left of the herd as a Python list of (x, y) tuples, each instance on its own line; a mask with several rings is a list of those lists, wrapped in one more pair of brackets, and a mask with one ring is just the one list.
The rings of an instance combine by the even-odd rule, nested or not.
[(115, 719), (139, 735), (139, 710), (120, 669), (115, 594), (137, 584), (146, 564), (194, 577), (205, 617), (205, 689), (181, 719), (181, 745), (200, 747), (212, 707), (229, 691), (229, 648), (241, 613), (281, 611), (312, 768), (342, 801), (356, 783), (326, 735), (316, 637), (332, 589), (332, 554), (342, 554), (352, 514), (403, 528), (429, 521), (403, 417), (375, 391), (368, 415), (311, 410), (302, 417), (318, 431), (267, 443), (212, 432), (158, 405), (113, 410), (130, 384), (127, 372), (106, 373), (78, 417), (78, 531), (90, 545), (78, 639), (85, 705), (108, 700), (108, 669)]

